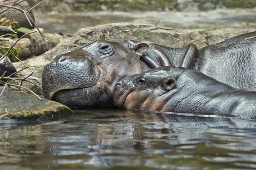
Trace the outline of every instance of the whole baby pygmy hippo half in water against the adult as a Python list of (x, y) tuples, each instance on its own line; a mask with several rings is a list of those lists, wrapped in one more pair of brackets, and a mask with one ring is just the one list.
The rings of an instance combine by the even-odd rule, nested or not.
[(199, 71), (170, 66), (122, 79), (114, 102), (127, 109), (256, 118), (255, 90), (235, 89)]

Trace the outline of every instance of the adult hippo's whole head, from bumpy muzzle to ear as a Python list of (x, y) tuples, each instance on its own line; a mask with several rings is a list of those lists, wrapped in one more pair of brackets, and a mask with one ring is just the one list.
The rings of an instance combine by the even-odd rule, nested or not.
[(150, 69), (138, 57), (148, 48), (145, 43), (97, 41), (58, 55), (43, 70), (43, 94), (70, 107), (112, 105), (116, 83)]

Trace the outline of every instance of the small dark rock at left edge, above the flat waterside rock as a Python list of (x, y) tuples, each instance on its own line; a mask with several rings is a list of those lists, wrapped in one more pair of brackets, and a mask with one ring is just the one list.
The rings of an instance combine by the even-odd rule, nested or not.
[(14, 68), (12, 62), (9, 60), (7, 56), (4, 56), (4, 58), (2, 59), (0, 56), (0, 77), (3, 75), (4, 71), (7, 71), (6, 74), (4, 74), (4, 76), (9, 76), (12, 73), (16, 72), (16, 69)]

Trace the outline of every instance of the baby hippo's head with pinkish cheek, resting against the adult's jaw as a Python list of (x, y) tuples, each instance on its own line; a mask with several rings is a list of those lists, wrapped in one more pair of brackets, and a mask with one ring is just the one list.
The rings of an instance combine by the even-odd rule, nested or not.
[(127, 76), (116, 84), (114, 103), (118, 107), (158, 111), (162, 110), (168, 99), (177, 89), (176, 78), (183, 69), (162, 66), (142, 74)]

